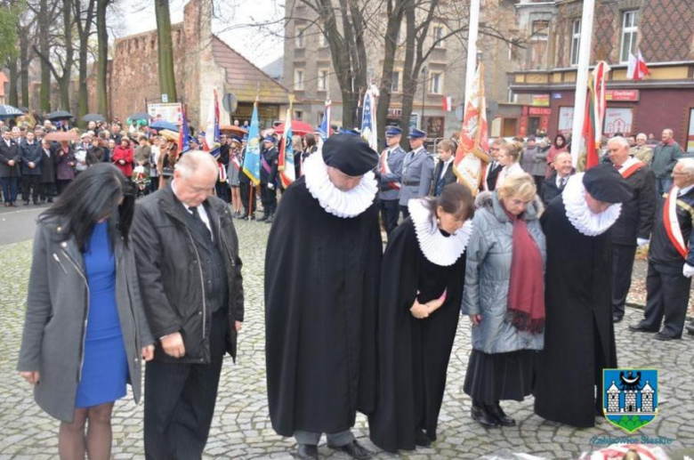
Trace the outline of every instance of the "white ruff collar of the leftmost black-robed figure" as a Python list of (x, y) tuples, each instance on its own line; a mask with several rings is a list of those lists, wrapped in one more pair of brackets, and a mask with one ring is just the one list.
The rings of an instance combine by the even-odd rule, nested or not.
[(355, 217), (368, 209), (378, 193), (378, 183), (373, 171), (364, 174), (354, 189), (339, 190), (327, 175), (327, 166), (319, 149), (303, 162), (306, 188), (327, 213), (347, 219)]

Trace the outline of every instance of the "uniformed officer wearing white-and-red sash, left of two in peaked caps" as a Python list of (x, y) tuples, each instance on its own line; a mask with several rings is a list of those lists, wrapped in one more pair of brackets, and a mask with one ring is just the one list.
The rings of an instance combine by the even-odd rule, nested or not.
[(388, 147), (381, 153), (378, 161), (378, 203), (385, 232), (390, 235), (398, 226), (400, 214), (399, 199), (402, 184), (402, 163), (407, 152), (400, 147), (402, 130), (398, 126), (388, 126), (385, 141)]

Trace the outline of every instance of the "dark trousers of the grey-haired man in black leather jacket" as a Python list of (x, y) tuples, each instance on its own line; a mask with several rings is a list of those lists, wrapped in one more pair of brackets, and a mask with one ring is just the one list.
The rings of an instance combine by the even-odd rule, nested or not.
[(210, 434), (224, 357), (227, 313), (209, 326), (210, 363), (149, 361), (145, 373), (144, 444), (148, 460), (195, 460)]

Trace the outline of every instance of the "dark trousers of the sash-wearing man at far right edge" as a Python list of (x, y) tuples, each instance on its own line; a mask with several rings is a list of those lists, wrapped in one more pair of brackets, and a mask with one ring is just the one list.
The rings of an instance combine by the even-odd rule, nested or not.
[[(668, 270), (669, 269), (669, 270)], [(691, 278), (682, 275), (679, 267), (663, 267), (649, 262), (646, 275), (646, 311), (639, 326), (652, 331), (660, 328), (665, 318), (662, 335), (682, 337), (684, 319), (690, 302)]]

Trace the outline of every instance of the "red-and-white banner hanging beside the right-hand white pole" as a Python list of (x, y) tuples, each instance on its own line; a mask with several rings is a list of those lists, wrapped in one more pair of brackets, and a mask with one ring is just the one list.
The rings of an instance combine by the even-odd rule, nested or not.
[(588, 97), (585, 98), (583, 138), (585, 141), (585, 170), (600, 163), (598, 149), (602, 141), (602, 126), (607, 109), (607, 75), (609, 65), (600, 61), (593, 69), (593, 78), (588, 80)]

